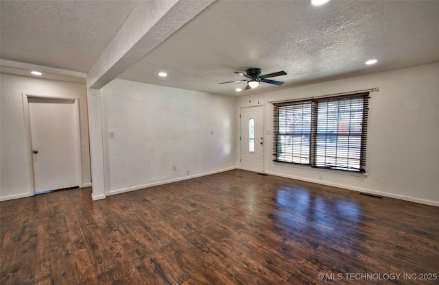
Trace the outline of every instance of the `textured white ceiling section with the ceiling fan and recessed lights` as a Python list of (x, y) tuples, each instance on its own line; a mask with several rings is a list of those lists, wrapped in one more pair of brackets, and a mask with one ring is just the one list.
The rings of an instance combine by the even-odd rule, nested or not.
[[(233, 71), (259, 67), (284, 86), (439, 61), (439, 1), (216, 1), (119, 77), (240, 95)], [(377, 58), (375, 66), (364, 62)], [(165, 79), (158, 71), (167, 71)], [(270, 88), (270, 89), (268, 89)], [(261, 84), (252, 92), (274, 90)], [(247, 91), (248, 92), (248, 91)]]

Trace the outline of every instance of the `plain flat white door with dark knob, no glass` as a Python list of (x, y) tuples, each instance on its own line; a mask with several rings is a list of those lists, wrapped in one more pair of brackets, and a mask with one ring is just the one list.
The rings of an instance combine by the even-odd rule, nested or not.
[(78, 105), (29, 98), (34, 191), (82, 186)]

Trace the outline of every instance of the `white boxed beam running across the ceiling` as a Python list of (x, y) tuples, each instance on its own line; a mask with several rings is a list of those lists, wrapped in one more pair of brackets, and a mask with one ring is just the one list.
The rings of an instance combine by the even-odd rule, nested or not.
[(88, 88), (104, 87), (213, 1), (141, 1), (88, 71)]

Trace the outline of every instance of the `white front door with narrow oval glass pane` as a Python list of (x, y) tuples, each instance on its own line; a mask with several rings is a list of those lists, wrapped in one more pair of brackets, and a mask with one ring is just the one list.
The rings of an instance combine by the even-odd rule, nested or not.
[(241, 108), (241, 169), (263, 172), (263, 106)]

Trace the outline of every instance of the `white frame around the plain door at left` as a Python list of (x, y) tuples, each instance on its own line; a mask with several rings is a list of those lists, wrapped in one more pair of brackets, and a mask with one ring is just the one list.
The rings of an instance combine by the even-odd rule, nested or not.
[(32, 136), (30, 131), (30, 116), (29, 116), (29, 98), (35, 99), (51, 99), (51, 100), (60, 100), (60, 101), (72, 101), (74, 102), (75, 108), (75, 133), (77, 137), (78, 143), (78, 186), (80, 188), (84, 187), (83, 179), (82, 179), (82, 149), (81, 149), (81, 129), (80, 129), (80, 99), (79, 98), (63, 98), (56, 96), (47, 96), (47, 95), (34, 95), (29, 93), (22, 93), (23, 96), (23, 114), (24, 114), (24, 123), (25, 123), (25, 136), (26, 136), (26, 156), (27, 156), (27, 167), (29, 169), (29, 195), (35, 195), (35, 178), (34, 178), (34, 162), (32, 157)]

